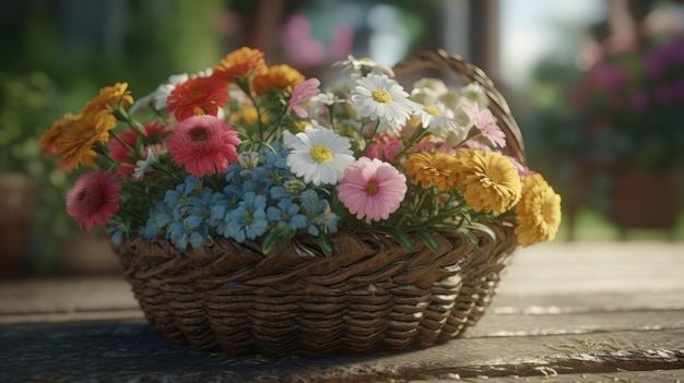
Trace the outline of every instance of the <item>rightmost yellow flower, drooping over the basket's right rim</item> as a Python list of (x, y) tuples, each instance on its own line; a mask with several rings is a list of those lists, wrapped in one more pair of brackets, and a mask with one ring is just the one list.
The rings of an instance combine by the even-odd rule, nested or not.
[(522, 247), (550, 241), (561, 225), (561, 195), (536, 173), (522, 180), (522, 196), (516, 206), (516, 236)]

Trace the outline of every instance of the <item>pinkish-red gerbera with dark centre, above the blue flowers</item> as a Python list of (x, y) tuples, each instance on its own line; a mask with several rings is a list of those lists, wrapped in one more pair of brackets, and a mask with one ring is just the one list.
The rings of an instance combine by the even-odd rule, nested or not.
[(168, 143), (174, 161), (194, 176), (224, 171), (237, 161), (240, 140), (233, 127), (211, 115), (189, 117), (178, 123)]

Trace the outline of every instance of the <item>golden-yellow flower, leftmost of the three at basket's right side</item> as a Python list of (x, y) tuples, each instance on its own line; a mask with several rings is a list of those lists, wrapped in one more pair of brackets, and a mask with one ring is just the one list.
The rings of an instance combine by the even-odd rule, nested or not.
[(431, 185), (440, 191), (451, 191), (458, 184), (456, 158), (444, 153), (421, 152), (410, 155), (404, 167), (423, 189)]

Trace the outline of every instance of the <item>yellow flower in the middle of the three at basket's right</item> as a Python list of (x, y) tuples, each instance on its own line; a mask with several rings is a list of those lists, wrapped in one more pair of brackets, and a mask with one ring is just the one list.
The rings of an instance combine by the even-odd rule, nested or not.
[(518, 170), (505, 156), (487, 151), (458, 151), (460, 193), (475, 212), (504, 213), (520, 200)]

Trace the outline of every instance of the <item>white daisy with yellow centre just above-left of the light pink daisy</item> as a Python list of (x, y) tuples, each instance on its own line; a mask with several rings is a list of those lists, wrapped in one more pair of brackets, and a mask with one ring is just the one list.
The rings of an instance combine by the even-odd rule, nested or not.
[(344, 176), (344, 169), (354, 163), (349, 141), (330, 129), (315, 124), (297, 133), (287, 155), (287, 166), (305, 182), (315, 185), (334, 184)]

